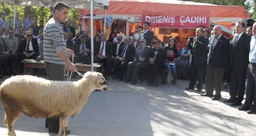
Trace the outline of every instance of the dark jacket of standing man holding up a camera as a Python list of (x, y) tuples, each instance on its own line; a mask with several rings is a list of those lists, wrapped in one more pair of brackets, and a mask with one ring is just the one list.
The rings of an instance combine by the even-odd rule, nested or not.
[(206, 62), (206, 49), (209, 39), (201, 37), (195, 42), (194, 47), (191, 49), (192, 62), (196, 64), (204, 64)]

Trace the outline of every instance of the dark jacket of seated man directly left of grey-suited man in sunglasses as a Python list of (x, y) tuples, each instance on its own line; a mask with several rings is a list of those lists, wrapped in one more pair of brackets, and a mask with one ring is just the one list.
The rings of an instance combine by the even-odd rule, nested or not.
[[(124, 51), (125, 45), (119, 47), (119, 51), (118, 51), (118, 56), (122, 56), (122, 53)], [(125, 54), (125, 61), (126, 62), (130, 62), (133, 61), (133, 56), (135, 54), (135, 48), (132, 45), (129, 45), (126, 49), (126, 54)]]

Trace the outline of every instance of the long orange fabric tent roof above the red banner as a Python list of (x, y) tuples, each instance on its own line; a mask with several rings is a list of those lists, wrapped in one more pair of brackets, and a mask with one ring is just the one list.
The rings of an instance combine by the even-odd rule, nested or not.
[[(166, 4), (141, 0), (108, 0), (107, 14), (115, 15), (173, 15), (173, 16), (209, 16), (210, 18), (239, 17), (250, 18), (243, 6), (209, 6), (189, 4)], [(90, 14), (90, 10), (78, 10), (81, 15)], [(95, 10), (94, 14), (104, 15), (104, 10)]]

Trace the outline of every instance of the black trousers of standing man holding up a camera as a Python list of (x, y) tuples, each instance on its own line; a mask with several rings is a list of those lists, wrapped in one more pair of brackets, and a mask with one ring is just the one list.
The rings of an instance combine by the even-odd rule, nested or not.
[(197, 77), (197, 89), (203, 89), (203, 81), (204, 81), (204, 64), (191, 63), (191, 73), (190, 73), (190, 81), (189, 87), (194, 88), (195, 86), (195, 78)]

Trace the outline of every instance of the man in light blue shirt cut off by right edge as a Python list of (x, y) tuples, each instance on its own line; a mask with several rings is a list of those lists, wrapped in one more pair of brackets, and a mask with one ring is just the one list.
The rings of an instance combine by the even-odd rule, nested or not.
[(256, 113), (256, 22), (253, 24), (253, 36), (250, 41), (249, 67), (247, 71), (246, 100), (238, 110), (247, 111), (248, 114)]

